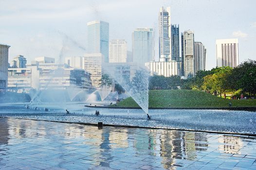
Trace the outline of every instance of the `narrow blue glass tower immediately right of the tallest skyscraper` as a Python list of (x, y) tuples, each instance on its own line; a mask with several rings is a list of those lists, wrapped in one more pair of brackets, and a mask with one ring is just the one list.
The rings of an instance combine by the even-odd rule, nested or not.
[(180, 62), (179, 24), (171, 25), (171, 60)]

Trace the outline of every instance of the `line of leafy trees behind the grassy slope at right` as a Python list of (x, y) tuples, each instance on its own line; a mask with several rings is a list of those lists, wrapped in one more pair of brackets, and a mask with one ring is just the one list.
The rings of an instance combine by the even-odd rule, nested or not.
[(256, 97), (256, 61), (247, 60), (237, 68), (222, 67), (211, 70), (200, 70), (195, 77), (181, 79), (180, 76), (151, 76), (150, 90), (164, 89), (204, 90), (220, 96), (228, 92), (246, 94)]

